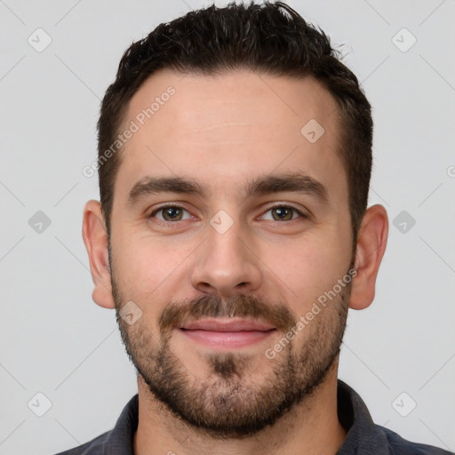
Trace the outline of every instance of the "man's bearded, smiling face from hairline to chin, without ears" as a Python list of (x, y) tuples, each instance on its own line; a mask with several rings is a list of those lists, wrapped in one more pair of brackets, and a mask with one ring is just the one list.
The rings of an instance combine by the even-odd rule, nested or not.
[[(354, 258), (337, 112), (313, 79), (251, 72), (162, 71), (131, 100), (109, 244), (117, 321), (149, 391), (213, 437), (273, 424), (339, 354)], [(262, 326), (191, 326), (209, 320)]]

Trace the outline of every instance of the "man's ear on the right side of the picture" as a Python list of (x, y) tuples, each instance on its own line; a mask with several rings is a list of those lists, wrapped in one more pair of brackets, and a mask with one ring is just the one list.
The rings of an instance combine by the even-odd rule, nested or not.
[(363, 215), (355, 251), (355, 270), (349, 307), (363, 309), (374, 299), (376, 276), (387, 246), (388, 218), (386, 209), (372, 205)]

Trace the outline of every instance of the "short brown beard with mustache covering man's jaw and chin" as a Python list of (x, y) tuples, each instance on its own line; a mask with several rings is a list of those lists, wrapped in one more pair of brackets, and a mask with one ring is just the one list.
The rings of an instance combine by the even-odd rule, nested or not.
[[(172, 334), (187, 318), (260, 318), (282, 332), (280, 339), (298, 320), (282, 303), (265, 304), (263, 299), (246, 294), (232, 299), (204, 295), (185, 302), (172, 301), (164, 308), (159, 331), (155, 331), (144, 323), (145, 317), (129, 325), (119, 316), (128, 299), (124, 299), (112, 267), (111, 280), (116, 321), (138, 375), (158, 402), (200, 434), (214, 439), (242, 438), (273, 426), (284, 413), (299, 403), (307, 403), (307, 398), (336, 368), (346, 329), (351, 282), (273, 360), (263, 351), (246, 354), (207, 349), (204, 359), (210, 374), (199, 379), (196, 371), (172, 351)], [(257, 368), (253, 369), (251, 365), (255, 363)], [(258, 370), (258, 380), (254, 382), (252, 374)]]

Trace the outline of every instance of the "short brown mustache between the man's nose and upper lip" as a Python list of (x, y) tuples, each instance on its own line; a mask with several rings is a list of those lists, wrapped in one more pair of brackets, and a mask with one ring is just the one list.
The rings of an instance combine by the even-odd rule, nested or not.
[(172, 301), (164, 308), (159, 319), (159, 330), (165, 334), (180, 327), (188, 320), (204, 317), (242, 317), (260, 319), (273, 324), (277, 330), (290, 331), (297, 322), (283, 303), (271, 305), (251, 295), (237, 294), (230, 299), (204, 295), (180, 302)]

